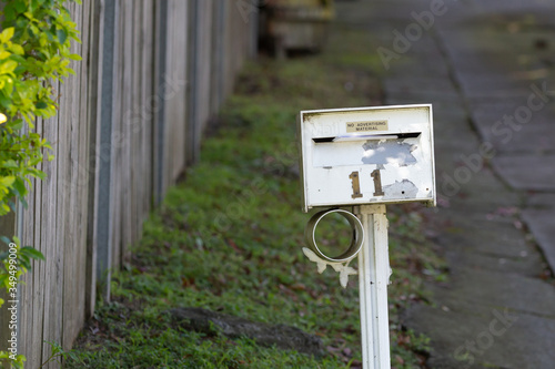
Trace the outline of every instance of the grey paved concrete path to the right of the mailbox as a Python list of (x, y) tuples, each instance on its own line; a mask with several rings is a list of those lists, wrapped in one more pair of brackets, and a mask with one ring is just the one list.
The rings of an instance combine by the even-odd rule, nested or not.
[(541, 0), (337, 1), (376, 45), (385, 103), (434, 107), (430, 215), (450, 278), (404, 314), (432, 338), (430, 368), (555, 368), (553, 14)]

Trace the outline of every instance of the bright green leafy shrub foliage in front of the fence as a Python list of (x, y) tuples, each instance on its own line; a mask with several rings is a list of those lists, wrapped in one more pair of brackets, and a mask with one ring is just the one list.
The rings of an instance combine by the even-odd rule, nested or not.
[[(64, 7), (70, 1), (81, 3), (0, 0), (0, 216), (13, 211), (17, 201), (27, 207), (31, 180), (46, 178), (38, 165), (53, 160), (52, 146), (37, 132), (34, 122), (56, 115), (56, 86), (74, 74), (71, 61), (81, 60), (71, 53), (71, 42), (80, 39)], [(43, 260), (44, 256), (31, 246), (20, 247), (17, 237), (2, 240), (10, 249), (0, 255), (0, 288), (12, 296), (21, 275), (31, 269), (31, 260)], [(0, 299), (0, 306), (3, 303)], [(10, 359), (14, 368), (23, 368), (26, 360), (22, 355), (0, 351), (2, 359)]]

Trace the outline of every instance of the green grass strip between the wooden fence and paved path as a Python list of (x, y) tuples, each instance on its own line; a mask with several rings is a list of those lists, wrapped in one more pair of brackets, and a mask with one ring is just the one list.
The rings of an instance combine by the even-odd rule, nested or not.
[[(245, 68), (221, 111), (221, 127), (204, 141), (200, 163), (144, 224), (132, 259), (113, 276), (112, 301), (99, 303), (65, 360), (68, 368), (360, 366), (357, 281), (351, 277), (343, 289), (331, 268), (320, 275), (304, 257), (309, 215), (301, 212), (296, 164), (300, 110), (363, 106), (379, 99), (377, 79), (361, 66), (375, 58), (371, 44), (366, 51), (349, 47), (337, 42), (341, 34), (323, 54), (262, 59)], [(333, 49), (339, 44), (341, 58)], [(352, 89), (345, 89), (347, 82)], [(389, 207), (392, 365), (397, 369), (420, 368), (427, 350), (427, 338), (401, 327), (398, 311), (426, 299), (424, 278), (443, 276), (443, 263), (422, 236), (420, 208)], [(321, 337), (327, 353), (315, 358), (185, 331), (165, 312), (174, 307), (295, 326)]]

